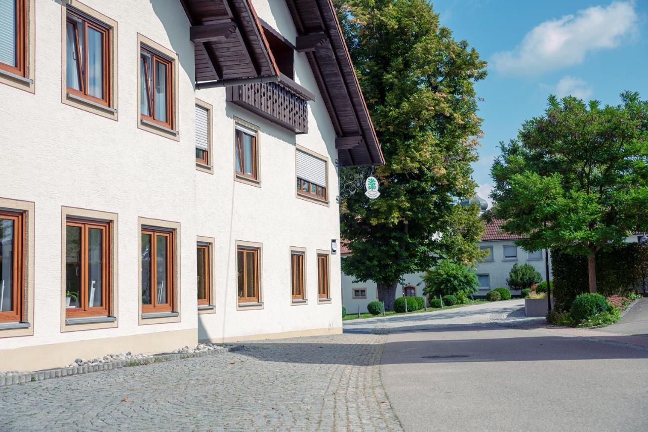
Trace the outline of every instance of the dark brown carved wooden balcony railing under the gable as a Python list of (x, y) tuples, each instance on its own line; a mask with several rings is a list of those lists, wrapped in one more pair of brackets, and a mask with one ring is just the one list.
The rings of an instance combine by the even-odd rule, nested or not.
[(227, 100), (294, 133), (308, 133), (308, 100), (314, 95), (287, 76), (277, 82), (227, 87)]

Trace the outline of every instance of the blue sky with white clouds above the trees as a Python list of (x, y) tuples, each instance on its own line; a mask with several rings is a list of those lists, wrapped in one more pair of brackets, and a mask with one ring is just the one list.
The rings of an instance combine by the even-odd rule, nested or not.
[[(483, 119), (478, 194), (487, 198), (500, 141), (542, 114), (550, 93), (616, 105), (648, 98), (648, 0), (435, 0), (441, 24), (489, 62), (476, 86)], [(488, 198), (487, 198), (488, 199)], [(489, 200), (490, 201), (490, 200)]]

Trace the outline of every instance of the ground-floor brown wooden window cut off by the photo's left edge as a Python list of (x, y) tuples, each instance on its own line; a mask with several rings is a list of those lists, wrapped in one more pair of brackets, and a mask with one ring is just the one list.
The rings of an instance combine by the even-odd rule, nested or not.
[(25, 215), (0, 210), (0, 323), (23, 320), (24, 263)]

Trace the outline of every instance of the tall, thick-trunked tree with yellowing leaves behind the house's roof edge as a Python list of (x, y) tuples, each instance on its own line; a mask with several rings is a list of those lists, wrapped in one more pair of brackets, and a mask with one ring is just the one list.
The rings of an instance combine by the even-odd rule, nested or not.
[[(486, 63), (439, 26), (426, 0), (336, 1), (340, 24), (371, 111), (386, 165), (380, 197), (342, 203), (341, 235), (352, 255), (345, 273), (375, 280), (391, 309), (399, 279), (443, 258), (470, 264), (483, 233), (470, 163), (481, 119), (474, 83)], [(440, 235), (439, 235), (440, 234)]]

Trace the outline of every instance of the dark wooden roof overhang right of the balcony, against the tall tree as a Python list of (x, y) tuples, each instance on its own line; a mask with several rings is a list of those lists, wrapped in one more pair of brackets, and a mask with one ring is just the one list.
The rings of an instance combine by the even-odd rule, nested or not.
[(336, 131), (341, 166), (385, 163), (331, 0), (286, 0)]

